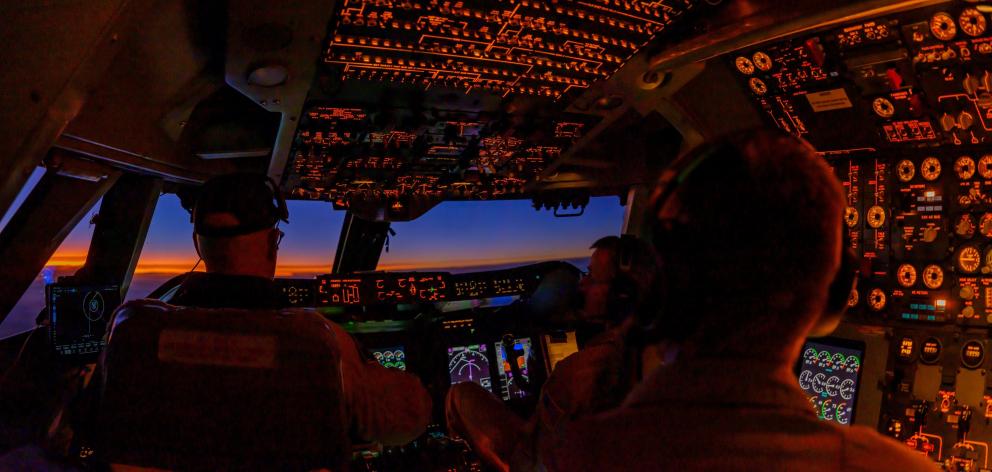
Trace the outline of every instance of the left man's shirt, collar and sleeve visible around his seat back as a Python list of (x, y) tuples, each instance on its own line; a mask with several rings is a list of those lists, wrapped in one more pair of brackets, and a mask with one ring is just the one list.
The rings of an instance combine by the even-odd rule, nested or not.
[[(167, 301), (200, 308), (266, 309), (277, 308), (279, 299), (278, 288), (266, 278), (194, 273)], [(420, 380), (360, 355), (351, 335), (328, 324), (338, 340), (341, 385), (356, 439), (400, 445), (420, 436), (431, 415), (430, 395)]]

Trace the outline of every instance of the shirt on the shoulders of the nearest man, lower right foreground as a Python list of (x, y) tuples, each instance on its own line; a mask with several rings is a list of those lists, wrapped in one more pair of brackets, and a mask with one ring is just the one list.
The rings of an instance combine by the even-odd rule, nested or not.
[(541, 453), (547, 470), (569, 471), (938, 470), (870, 428), (818, 419), (789, 369), (747, 359), (657, 369)]

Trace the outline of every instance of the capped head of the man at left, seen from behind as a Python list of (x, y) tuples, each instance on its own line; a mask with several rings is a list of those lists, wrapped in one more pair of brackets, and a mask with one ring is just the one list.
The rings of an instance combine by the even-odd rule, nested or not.
[(193, 207), (193, 244), (207, 272), (273, 277), (282, 238), (279, 221), (288, 221), (285, 201), (261, 174), (213, 177)]

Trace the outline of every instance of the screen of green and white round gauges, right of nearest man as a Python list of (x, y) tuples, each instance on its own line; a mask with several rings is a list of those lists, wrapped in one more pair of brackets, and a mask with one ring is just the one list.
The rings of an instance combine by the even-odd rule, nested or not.
[(799, 387), (822, 420), (849, 425), (854, 420), (864, 344), (818, 339), (803, 345)]

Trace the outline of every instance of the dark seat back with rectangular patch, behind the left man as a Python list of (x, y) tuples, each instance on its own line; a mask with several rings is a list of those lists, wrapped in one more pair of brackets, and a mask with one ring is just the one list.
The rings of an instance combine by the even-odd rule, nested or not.
[(100, 360), (100, 462), (338, 469), (350, 455), (334, 332), (301, 310), (122, 306)]

